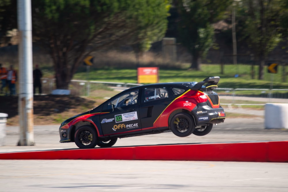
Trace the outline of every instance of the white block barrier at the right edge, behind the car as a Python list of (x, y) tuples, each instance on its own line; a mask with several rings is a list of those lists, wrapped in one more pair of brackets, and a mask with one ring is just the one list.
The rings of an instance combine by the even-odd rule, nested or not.
[(288, 103), (266, 103), (265, 128), (288, 129)]

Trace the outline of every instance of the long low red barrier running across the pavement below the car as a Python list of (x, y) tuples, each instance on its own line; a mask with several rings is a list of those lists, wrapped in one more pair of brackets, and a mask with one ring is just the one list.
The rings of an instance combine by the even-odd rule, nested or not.
[(26, 151), (0, 153), (0, 159), (288, 162), (288, 141)]

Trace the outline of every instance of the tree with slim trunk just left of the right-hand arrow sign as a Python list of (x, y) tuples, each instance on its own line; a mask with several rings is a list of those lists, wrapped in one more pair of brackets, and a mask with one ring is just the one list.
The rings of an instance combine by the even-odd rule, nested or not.
[(259, 58), (258, 79), (263, 79), (266, 57), (282, 39), (280, 22), (284, 1), (242, 0), (242, 3), (241, 19), (245, 21), (242, 38)]

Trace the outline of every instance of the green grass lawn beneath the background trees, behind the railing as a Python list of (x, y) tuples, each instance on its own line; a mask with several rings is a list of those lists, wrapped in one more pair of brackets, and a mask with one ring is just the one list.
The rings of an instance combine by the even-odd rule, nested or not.
[[(221, 66), (218, 64), (202, 64), (201, 71), (190, 69), (171, 69), (160, 67), (159, 82), (181, 82), (181, 81), (202, 81), (206, 77), (219, 76), (221, 79), (218, 83), (219, 88), (253, 88), (253, 89), (270, 89), (271, 82), (273, 89), (288, 89), (288, 80), (282, 82), (282, 66), (278, 67), (278, 73), (271, 74), (265, 69), (264, 79), (257, 79), (257, 70), (255, 68), (254, 79), (251, 78), (251, 66), (249, 65), (225, 65), (224, 73), (221, 74)], [(238, 77), (235, 77), (235, 75)], [(121, 83), (137, 83), (136, 69), (90, 69), (89, 73), (85, 69), (80, 69), (75, 73), (73, 79), (88, 81), (108, 81)], [(273, 81), (271, 81), (273, 79)], [(287, 78), (288, 79), (288, 78)]]

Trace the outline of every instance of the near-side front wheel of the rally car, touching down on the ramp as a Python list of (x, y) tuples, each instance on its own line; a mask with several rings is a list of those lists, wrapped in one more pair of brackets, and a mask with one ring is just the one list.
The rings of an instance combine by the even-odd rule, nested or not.
[(80, 149), (91, 149), (97, 145), (96, 129), (84, 125), (79, 127), (74, 134), (74, 142)]

